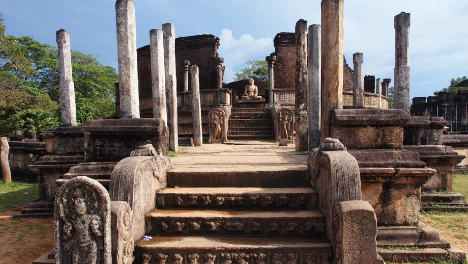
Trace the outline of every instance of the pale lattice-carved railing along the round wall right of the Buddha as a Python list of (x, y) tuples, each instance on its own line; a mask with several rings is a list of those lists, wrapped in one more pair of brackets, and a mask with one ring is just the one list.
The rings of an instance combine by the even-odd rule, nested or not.
[[(273, 94), (275, 103), (279, 103), (281, 106), (294, 107), (294, 89), (274, 89)], [(378, 94), (363, 92), (363, 96), (365, 108), (378, 108)], [(389, 98), (382, 96), (381, 108), (388, 109), (388, 104)], [(353, 105), (353, 91), (343, 91), (343, 105)]]

